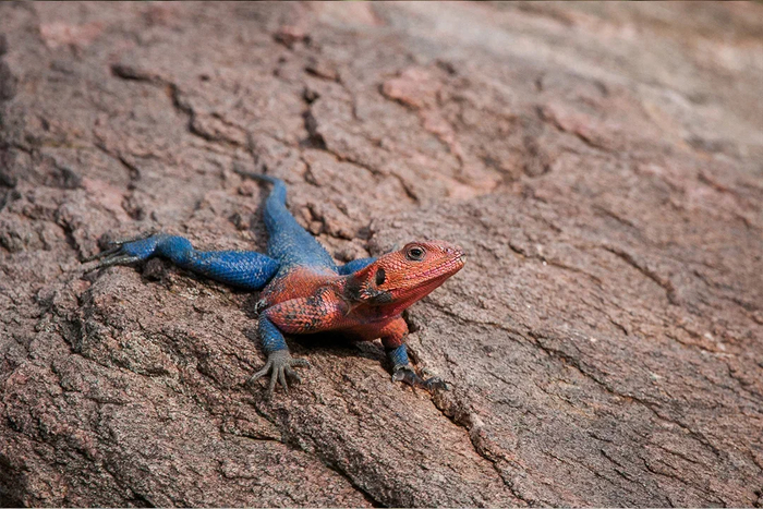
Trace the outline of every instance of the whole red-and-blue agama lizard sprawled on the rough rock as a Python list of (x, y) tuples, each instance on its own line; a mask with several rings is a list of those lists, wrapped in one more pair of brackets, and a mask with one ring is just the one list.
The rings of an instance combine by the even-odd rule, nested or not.
[(382, 339), (392, 364), (392, 380), (433, 390), (447, 389), (439, 378), (422, 379), (413, 371), (403, 339), (402, 312), (427, 295), (464, 264), (463, 251), (444, 241), (412, 242), (378, 258), (337, 266), (286, 206), (286, 184), (274, 177), (239, 172), (270, 182), (265, 204), (268, 255), (251, 251), (196, 251), (191, 242), (164, 233), (113, 242), (89, 259), (93, 269), (125, 265), (158, 255), (182, 268), (244, 290), (263, 290), (256, 304), (258, 331), (267, 354), (250, 383), (270, 374), (268, 397), (287, 376), (300, 381), (295, 366), (310, 366), (289, 353), (283, 334), (341, 331), (360, 341)]

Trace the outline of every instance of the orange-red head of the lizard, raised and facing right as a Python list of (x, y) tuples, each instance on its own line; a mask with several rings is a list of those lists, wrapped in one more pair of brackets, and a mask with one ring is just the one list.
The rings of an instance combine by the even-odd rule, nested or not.
[(463, 250), (445, 241), (412, 242), (349, 277), (346, 294), (358, 304), (396, 315), (461, 270)]

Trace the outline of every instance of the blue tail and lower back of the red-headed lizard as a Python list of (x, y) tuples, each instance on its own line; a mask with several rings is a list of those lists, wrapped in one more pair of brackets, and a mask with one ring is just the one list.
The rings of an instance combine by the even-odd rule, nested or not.
[(265, 227), (268, 255), (280, 263), (279, 274), (295, 265), (337, 270), (334, 258), (313, 235), (300, 226), (286, 206), (287, 190), (282, 180), (270, 175), (237, 171), (243, 177), (270, 182), (272, 191), (265, 202)]

